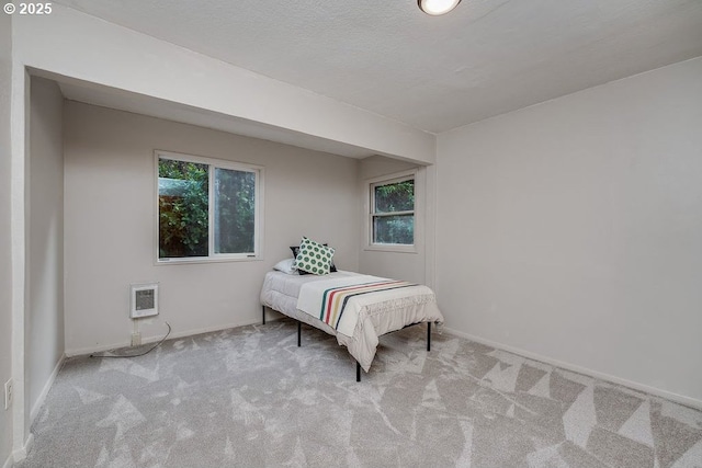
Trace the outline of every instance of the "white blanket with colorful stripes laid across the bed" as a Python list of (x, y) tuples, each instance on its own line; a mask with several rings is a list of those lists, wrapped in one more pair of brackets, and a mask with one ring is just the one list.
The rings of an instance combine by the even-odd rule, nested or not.
[(321, 279), (302, 286), (297, 309), (352, 336), (363, 307), (396, 301), (424, 289), (426, 286), (369, 275)]

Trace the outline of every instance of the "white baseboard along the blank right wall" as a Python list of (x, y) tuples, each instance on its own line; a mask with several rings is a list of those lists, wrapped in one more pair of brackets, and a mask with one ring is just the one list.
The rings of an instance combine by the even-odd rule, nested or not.
[(654, 395), (656, 397), (660, 397), (660, 398), (665, 398), (667, 400), (670, 401), (675, 401), (677, 403), (680, 404), (684, 404), (686, 407), (690, 407), (690, 408), (694, 408), (698, 410), (702, 410), (702, 400), (698, 400), (695, 398), (690, 398), (690, 397), (686, 397), (682, 395), (678, 395), (678, 393), (673, 393), (671, 391), (667, 391), (667, 390), (663, 390), (660, 388), (655, 388), (655, 387), (649, 387), (647, 385), (644, 384), (639, 384), (636, 381), (632, 381), (632, 380), (626, 380), (624, 378), (621, 377), (616, 377), (610, 374), (604, 374), (598, 370), (592, 370), (589, 369), (587, 367), (581, 367), (575, 364), (570, 364), (570, 363), (565, 363), (563, 361), (558, 361), (558, 359), (553, 359), (551, 357), (547, 356), (542, 356), (540, 354), (536, 353), (531, 353), (526, 350), (521, 350), (519, 347), (514, 347), (514, 346), (510, 346), (503, 343), (498, 343), (491, 340), (486, 340), (483, 339), (480, 336), (475, 336), (468, 333), (464, 333), (462, 331), (458, 330), (454, 330), (454, 329), (450, 329), (446, 327), (442, 328), (443, 332), (448, 333), (448, 334), (452, 334), (454, 336), (460, 336), (460, 338), (465, 338), (467, 340), (474, 341), (476, 343), (480, 343), (480, 344), (485, 344), (487, 346), (490, 347), (497, 347), (503, 351), (508, 351), (510, 353), (514, 353), (514, 354), (519, 354), (520, 356), (523, 357), (528, 357), (530, 359), (534, 359), (534, 361), (541, 361), (542, 363), (546, 363), (546, 364), (551, 364), (553, 366), (556, 367), (561, 367), (564, 368), (566, 370), (571, 370), (574, 373), (578, 373), (578, 374), (585, 374), (587, 376), (590, 377), (595, 377), (598, 378), (600, 380), (607, 380), (610, 381), (612, 384), (619, 384), (619, 385), (623, 385), (624, 387), (629, 387), (629, 388), (633, 388), (634, 390), (638, 390), (638, 391), (643, 391), (644, 393), (649, 393), (649, 395)]

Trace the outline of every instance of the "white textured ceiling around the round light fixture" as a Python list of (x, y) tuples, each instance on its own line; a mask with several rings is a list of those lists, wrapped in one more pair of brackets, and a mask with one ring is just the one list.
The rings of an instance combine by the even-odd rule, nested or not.
[(59, 0), (441, 133), (702, 55), (702, 0)]

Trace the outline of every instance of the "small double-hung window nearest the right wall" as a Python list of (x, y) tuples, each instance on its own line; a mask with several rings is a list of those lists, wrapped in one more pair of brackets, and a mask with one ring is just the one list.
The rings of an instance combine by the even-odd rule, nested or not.
[(415, 244), (415, 175), (371, 183), (371, 244)]

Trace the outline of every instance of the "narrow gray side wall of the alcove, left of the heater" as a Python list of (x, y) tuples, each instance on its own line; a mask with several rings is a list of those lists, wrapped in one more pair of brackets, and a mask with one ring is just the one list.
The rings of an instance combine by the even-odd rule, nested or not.
[(64, 355), (64, 98), (31, 81), (25, 387), (32, 419)]

